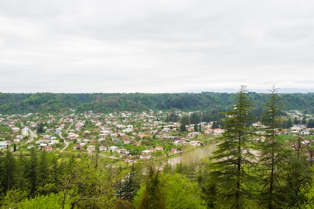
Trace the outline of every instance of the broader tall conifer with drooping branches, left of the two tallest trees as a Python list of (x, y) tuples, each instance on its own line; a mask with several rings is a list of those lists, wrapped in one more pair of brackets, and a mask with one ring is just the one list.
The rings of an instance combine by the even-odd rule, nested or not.
[(254, 183), (249, 170), (255, 157), (248, 145), (251, 139), (250, 111), (252, 102), (247, 97), (246, 86), (236, 95), (234, 109), (227, 112), (226, 132), (213, 155), (210, 181), (215, 184), (213, 204), (217, 208), (248, 208), (250, 186)]

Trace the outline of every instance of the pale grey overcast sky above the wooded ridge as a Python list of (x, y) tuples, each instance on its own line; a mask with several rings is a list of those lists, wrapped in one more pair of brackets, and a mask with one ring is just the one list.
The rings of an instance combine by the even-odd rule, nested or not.
[(314, 1), (0, 0), (0, 92), (314, 92)]

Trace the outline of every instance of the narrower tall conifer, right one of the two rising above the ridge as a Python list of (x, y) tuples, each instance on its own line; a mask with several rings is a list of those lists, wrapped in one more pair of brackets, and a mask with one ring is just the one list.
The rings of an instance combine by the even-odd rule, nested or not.
[(260, 200), (265, 208), (281, 208), (282, 197), (280, 195), (281, 178), (284, 173), (284, 164), (287, 162), (285, 147), (278, 140), (280, 128), (279, 111), (281, 105), (277, 95), (277, 89), (270, 90), (271, 94), (268, 103), (265, 104), (266, 111), (262, 115), (262, 122), (265, 125), (265, 141), (261, 142), (261, 195)]

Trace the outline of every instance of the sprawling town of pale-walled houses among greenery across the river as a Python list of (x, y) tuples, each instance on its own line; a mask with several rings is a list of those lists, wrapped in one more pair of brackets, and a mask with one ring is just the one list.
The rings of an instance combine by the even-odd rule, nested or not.
[[(193, 112), (175, 112), (179, 121)], [(1, 115), (0, 149), (27, 151), (34, 147), (38, 151), (75, 151), (100, 153), (133, 162), (136, 159), (149, 159), (152, 156), (164, 156), (182, 153), (184, 147), (200, 147), (212, 143), (215, 137), (224, 133), (221, 127), (213, 127), (213, 122), (186, 124), (182, 130), (180, 122), (166, 122), (171, 113), (120, 112), (110, 114), (92, 111), (77, 114), (70, 109), (59, 114), (13, 114)], [(282, 129), (285, 135), (310, 136), (314, 129), (306, 127), (306, 121), (312, 118), (306, 115), (303, 120), (298, 110), (288, 112), (290, 118), (297, 118), (299, 124)], [(305, 121), (302, 124), (301, 121)], [(252, 123), (252, 127), (261, 128), (261, 122)], [(263, 137), (259, 137), (263, 140)], [(310, 144), (311, 139), (302, 141)]]

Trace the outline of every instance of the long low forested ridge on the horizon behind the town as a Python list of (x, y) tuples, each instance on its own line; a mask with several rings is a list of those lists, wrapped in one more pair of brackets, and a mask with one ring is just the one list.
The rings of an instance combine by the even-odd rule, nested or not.
[[(256, 111), (262, 112), (268, 94), (249, 92)], [(233, 104), (235, 93), (0, 93), (0, 112), (77, 112), (98, 113), (152, 110), (211, 110), (225, 112)], [(314, 93), (278, 94), (283, 110), (314, 112)]]

